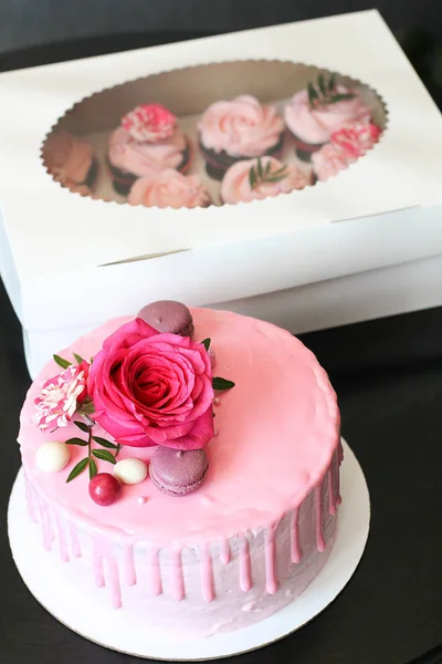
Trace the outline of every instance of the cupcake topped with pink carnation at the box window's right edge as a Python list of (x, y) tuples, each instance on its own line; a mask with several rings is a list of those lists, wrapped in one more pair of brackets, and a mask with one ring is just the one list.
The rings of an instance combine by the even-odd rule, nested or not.
[(380, 134), (381, 129), (371, 123), (334, 132), (330, 142), (312, 155), (313, 172), (317, 179), (326, 180), (362, 157), (379, 141)]

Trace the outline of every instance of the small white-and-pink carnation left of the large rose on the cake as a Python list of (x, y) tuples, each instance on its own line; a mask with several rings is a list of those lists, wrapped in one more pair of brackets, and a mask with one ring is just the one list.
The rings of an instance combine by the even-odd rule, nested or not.
[(34, 403), (35, 423), (39, 428), (67, 426), (78, 406), (87, 396), (87, 375), (90, 364), (72, 364), (61, 374), (49, 378), (41, 388)]

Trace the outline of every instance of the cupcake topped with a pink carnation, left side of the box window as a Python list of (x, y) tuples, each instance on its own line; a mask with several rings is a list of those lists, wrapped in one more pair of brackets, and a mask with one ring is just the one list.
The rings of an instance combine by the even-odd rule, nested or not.
[(114, 189), (126, 196), (135, 180), (190, 164), (190, 143), (176, 116), (160, 104), (137, 106), (109, 138), (107, 162)]

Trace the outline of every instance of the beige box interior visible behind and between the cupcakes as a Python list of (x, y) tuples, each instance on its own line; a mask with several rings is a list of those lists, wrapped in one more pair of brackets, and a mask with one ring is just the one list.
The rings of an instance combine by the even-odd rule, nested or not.
[[(193, 146), (179, 169), (187, 175), (198, 175), (214, 205), (222, 205), (220, 179), (230, 164), (224, 164), (213, 151), (204, 149), (203, 154), (200, 149), (198, 121), (203, 111), (215, 101), (251, 94), (261, 103), (274, 104), (282, 115), (288, 100), (309, 81), (316, 80), (319, 73), (329, 76), (336, 72), (281, 60), (236, 60), (176, 69), (128, 81), (96, 92), (74, 104), (51, 128), (42, 144), (42, 151), (54, 132), (69, 132), (88, 141), (94, 147), (99, 165), (93, 198), (127, 205), (128, 185), (133, 181), (129, 183), (128, 174), (109, 172), (106, 166), (107, 139), (125, 113), (139, 104), (160, 103), (177, 115), (180, 127)], [(385, 132), (388, 112), (379, 93), (366, 83), (345, 74), (336, 73), (336, 76), (339, 83), (358, 87), (362, 98), (373, 111), (373, 122)], [(303, 160), (307, 157), (309, 159), (309, 149), (297, 146), (296, 139), (288, 131), (284, 133), (283, 145), (277, 147), (275, 152), (281, 154), (272, 154), (282, 162), (295, 164), (304, 172), (311, 169)], [(301, 149), (298, 155), (296, 147)], [(207, 173), (204, 156), (210, 157), (210, 175)], [(369, 154), (361, 158), (369, 158)], [(44, 159), (42, 160), (45, 166)], [(49, 176), (52, 177), (50, 174)], [(118, 191), (115, 191), (113, 180), (117, 183)], [(298, 191), (284, 195), (296, 196)]]

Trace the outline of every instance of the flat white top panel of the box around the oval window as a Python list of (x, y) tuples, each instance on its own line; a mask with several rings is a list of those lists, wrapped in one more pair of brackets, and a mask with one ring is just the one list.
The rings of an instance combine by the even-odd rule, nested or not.
[[(149, 208), (148, 218), (141, 206), (73, 195), (45, 172), (44, 137), (80, 100), (128, 79), (263, 59), (327, 68), (372, 87), (388, 112), (380, 143), (318, 186), (235, 206)], [(67, 276), (71, 284), (77, 281), (85, 288), (86, 279), (93, 286), (94, 273), (109, 264), (172, 259), (201, 249), (213, 253), (221, 246), (246, 247), (277, 237), (293, 241), (301, 231), (319, 232), (338, 221), (442, 203), (441, 114), (375, 10), (7, 72), (0, 75), (0, 266), (10, 292), (13, 282), (17, 292), (39, 280), (56, 288), (59, 277)], [(433, 245), (424, 252), (434, 255), (438, 249)], [(409, 242), (401, 260), (413, 258)], [(326, 256), (322, 260), (326, 266)], [(241, 280), (239, 264), (229, 269)], [(323, 274), (327, 278), (326, 268)], [(265, 274), (254, 290), (269, 292)], [(241, 290), (236, 297), (243, 297)], [(204, 303), (201, 298), (190, 300)], [(209, 295), (206, 301), (213, 300)], [(23, 322), (23, 308), (14, 305)]]

